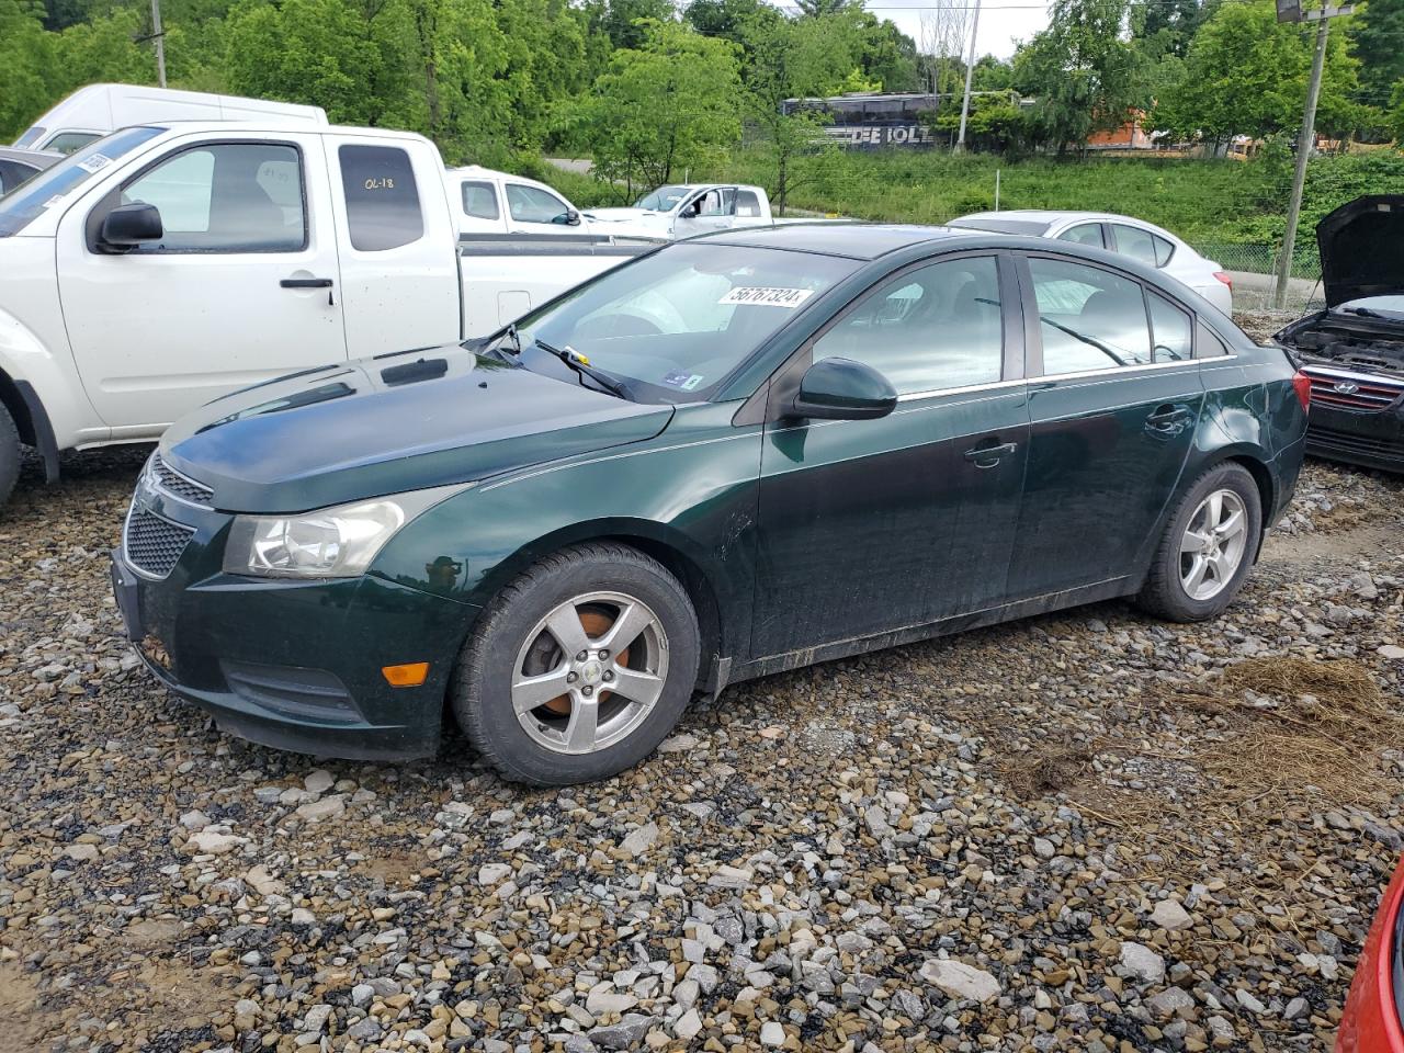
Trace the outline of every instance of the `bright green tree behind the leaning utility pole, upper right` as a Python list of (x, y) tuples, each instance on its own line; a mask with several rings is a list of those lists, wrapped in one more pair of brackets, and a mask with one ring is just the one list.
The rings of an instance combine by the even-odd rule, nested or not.
[[(1214, 142), (1296, 131), (1314, 35), (1311, 27), (1279, 22), (1272, 0), (1221, 4), (1189, 45), (1178, 83), (1157, 100), (1154, 125)], [(1332, 32), (1317, 104), (1323, 131), (1345, 131), (1359, 119), (1351, 101), (1355, 67), (1345, 34)]]

